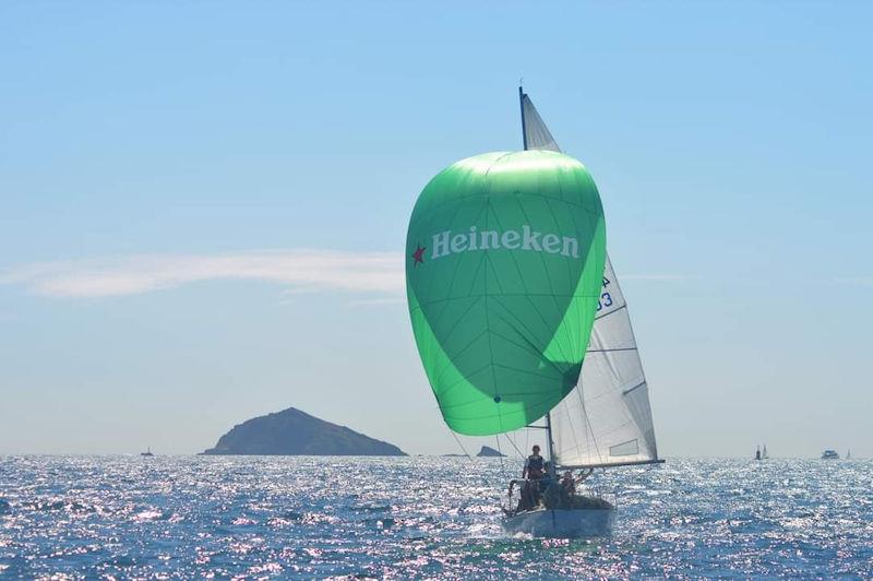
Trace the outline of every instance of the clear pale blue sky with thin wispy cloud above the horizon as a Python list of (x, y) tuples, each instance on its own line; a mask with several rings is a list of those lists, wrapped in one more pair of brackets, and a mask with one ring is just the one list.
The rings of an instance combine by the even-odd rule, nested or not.
[(0, 454), (289, 406), (458, 452), (406, 227), (521, 149), (524, 79), (600, 190), (661, 455), (873, 455), (872, 61), (863, 2), (2, 2)]

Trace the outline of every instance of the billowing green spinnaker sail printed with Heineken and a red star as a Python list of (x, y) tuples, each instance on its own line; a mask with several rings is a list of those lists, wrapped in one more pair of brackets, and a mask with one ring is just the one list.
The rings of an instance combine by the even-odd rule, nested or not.
[(517, 429), (573, 389), (605, 254), (597, 187), (567, 155), (487, 153), (424, 187), (406, 238), (406, 290), (450, 428)]

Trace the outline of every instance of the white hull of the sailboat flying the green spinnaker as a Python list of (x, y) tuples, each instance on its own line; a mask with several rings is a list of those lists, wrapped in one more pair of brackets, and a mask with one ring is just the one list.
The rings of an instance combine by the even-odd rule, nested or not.
[(511, 533), (575, 538), (609, 534), (614, 518), (615, 509), (539, 509), (506, 517), (503, 526)]

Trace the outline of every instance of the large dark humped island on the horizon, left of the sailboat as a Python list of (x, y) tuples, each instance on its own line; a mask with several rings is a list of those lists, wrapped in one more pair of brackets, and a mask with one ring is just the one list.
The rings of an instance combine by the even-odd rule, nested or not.
[(207, 455), (406, 455), (387, 442), (289, 407), (243, 422), (222, 436)]

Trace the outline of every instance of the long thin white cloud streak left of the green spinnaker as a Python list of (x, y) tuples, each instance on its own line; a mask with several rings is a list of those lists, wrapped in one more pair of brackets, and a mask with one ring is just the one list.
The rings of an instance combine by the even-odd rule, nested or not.
[(189, 283), (249, 280), (291, 292), (339, 290), (398, 296), (403, 258), (395, 252), (332, 250), (258, 251), (224, 254), (131, 256), (46, 262), (0, 272), (0, 284), (23, 285), (49, 297), (111, 297), (174, 288)]

